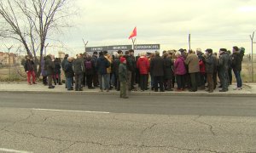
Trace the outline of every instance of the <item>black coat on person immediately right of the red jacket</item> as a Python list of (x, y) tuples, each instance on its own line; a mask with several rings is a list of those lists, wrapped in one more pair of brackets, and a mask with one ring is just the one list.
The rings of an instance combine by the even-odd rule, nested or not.
[(164, 76), (165, 64), (164, 59), (162, 59), (160, 56), (155, 56), (154, 59), (151, 60), (150, 67), (154, 77)]

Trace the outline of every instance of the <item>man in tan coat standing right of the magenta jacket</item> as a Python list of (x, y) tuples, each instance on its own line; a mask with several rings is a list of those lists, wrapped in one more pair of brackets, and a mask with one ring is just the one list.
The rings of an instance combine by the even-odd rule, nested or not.
[(196, 54), (193, 53), (192, 50), (189, 50), (189, 55), (187, 59), (185, 60), (185, 64), (189, 66), (189, 76), (191, 81), (191, 88), (189, 89), (189, 92), (196, 92), (197, 91), (197, 78), (198, 73), (200, 71), (199, 67), (199, 59)]

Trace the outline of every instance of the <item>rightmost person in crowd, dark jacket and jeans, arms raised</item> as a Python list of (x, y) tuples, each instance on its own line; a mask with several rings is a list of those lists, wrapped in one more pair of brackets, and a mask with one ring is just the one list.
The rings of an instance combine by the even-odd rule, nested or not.
[(237, 46), (233, 47), (233, 55), (232, 55), (232, 68), (236, 77), (237, 87), (234, 90), (242, 89), (241, 82), (241, 61), (244, 56), (245, 49), (238, 48)]

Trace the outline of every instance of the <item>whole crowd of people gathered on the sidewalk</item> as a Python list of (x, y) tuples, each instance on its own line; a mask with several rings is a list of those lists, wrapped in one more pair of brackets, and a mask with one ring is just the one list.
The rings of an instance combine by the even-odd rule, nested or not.
[[(134, 55), (134, 50), (119, 50), (113, 54), (108, 51), (94, 52), (92, 55), (77, 54), (75, 58), (68, 54), (61, 61), (49, 54), (42, 61), (42, 76), (44, 85), (55, 88), (53, 83), (62, 85), (61, 69), (65, 73), (65, 86), (68, 91), (82, 91), (83, 88), (99, 88), (100, 91), (115, 89), (120, 91), (121, 98), (128, 98), (127, 91), (153, 90), (154, 92), (175, 91), (196, 92), (198, 89), (212, 93), (217, 88), (219, 92), (227, 92), (232, 83), (232, 71), (236, 77), (235, 90), (242, 89), (241, 62), (245, 48), (233, 47), (232, 53), (226, 48), (220, 48), (219, 53), (213, 53), (211, 48), (205, 52), (186, 49), (163, 51)], [(26, 56), (25, 71), (27, 82), (35, 82), (34, 63)], [(32, 82), (31, 77), (32, 76)], [(136, 88), (136, 85), (138, 85)]]

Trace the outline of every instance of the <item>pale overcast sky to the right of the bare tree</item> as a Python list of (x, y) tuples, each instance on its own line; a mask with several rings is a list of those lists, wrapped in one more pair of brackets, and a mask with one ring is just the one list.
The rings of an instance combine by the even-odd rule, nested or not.
[[(69, 52), (88, 47), (131, 44), (137, 26), (137, 44), (160, 43), (161, 50), (232, 48), (251, 51), (249, 35), (256, 30), (256, 0), (75, 0), (79, 14), (73, 27), (58, 39)], [(69, 19), (68, 19), (69, 20)], [(255, 38), (256, 42), (256, 38)], [(256, 46), (256, 45), (255, 45)], [(50, 48), (49, 48), (50, 49)]]

